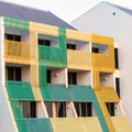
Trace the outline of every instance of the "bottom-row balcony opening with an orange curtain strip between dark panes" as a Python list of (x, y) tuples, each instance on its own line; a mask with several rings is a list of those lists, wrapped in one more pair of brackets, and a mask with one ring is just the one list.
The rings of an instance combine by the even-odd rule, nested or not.
[(62, 101), (45, 102), (45, 106), (50, 118), (66, 117), (66, 102), (62, 102)]

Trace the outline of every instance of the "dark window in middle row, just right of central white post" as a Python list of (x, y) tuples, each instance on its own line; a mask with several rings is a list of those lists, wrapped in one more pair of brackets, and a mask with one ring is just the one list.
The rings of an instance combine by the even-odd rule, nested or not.
[(77, 85), (77, 73), (68, 73), (68, 84)]

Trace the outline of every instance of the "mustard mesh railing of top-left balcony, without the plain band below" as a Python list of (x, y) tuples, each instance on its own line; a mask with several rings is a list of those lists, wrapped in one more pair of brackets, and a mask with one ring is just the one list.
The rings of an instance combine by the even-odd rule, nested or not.
[(23, 42), (4, 41), (6, 57), (25, 57), (30, 58), (30, 44)]

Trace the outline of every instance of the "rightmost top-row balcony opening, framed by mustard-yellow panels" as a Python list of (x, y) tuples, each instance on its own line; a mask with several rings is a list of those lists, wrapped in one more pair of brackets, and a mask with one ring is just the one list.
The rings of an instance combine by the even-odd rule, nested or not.
[(92, 44), (92, 53), (97, 54), (108, 54), (108, 45), (105, 44)]

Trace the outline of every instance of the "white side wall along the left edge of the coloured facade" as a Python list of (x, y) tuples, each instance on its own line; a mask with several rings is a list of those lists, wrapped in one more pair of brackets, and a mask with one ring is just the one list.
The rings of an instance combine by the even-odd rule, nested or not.
[[(14, 121), (11, 120), (10, 102), (6, 90), (6, 74), (4, 74), (4, 28), (2, 18), (0, 18), (0, 132), (16, 132), (14, 130)], [(14, 125), (13, 125), (14, 124)]]

